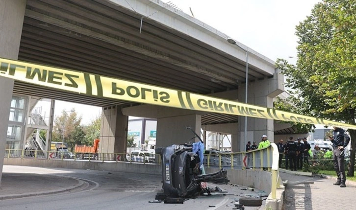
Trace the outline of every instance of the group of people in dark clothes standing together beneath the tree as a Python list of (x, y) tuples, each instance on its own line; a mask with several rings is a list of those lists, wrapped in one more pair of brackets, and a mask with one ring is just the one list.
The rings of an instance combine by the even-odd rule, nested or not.
[(285, 155), (285, 169), (297, 170), (303, 168), (303, 163), (309, 164), (309, 151), (310, 144), (303, 138), (298, 138), (297, 142), (293, 140), (293, 137), (289, 137), (288, 141), (284, 144), (283, 140), (278, 143), (278, 152), (280, 153), (279, 166), (281, 167), (283, 154)]

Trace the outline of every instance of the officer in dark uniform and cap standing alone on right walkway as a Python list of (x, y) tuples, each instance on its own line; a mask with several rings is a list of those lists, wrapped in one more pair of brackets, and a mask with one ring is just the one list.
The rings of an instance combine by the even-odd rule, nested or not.
[(332, 161), (337, 175), (337, 181), (334, 185), (346, 187), (344, 148), (349, 144), (350, 137), (347, 133), (345, 133), (344, 129), (336, 126), (333, 128), (332, 137), (329, 137), (329, 139), (332, 142)]

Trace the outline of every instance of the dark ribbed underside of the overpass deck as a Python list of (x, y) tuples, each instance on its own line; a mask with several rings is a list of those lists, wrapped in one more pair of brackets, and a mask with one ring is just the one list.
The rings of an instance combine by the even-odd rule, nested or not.
[[(141, 17), (110, 0), (27, 0), (18, 59), (201, 94), (234, 90), (245, 80), (244, 59), (150, 17), (141, 27)], [(250, 64), (249, 79), (271, 76)], [(101, 107), (137, 105), (18, 81), (14, 93)], [(202, 119), (236, 121), (219, 114)]]

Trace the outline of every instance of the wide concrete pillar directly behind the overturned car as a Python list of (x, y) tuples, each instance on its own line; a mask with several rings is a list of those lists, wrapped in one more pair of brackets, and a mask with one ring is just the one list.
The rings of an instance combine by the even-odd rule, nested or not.
[[(164, 147), (171, 144), (188, 143), (194, 137), (191, 127), (198, 135), (201, 133), (201, 115), (182, 115), (174, 117), (162, 117), (157, 119), (156, 147)], [(193, 140), (196, 142), (198, 139)]]

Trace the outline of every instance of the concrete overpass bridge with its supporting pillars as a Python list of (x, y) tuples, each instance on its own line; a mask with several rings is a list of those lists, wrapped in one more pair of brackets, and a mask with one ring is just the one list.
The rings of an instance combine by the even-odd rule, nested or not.
[[(0, 0), (0, 10), (2, 58), (244, 101), (245, 51), (229, 44), (224, 33), (160, 0)], [(274, 61), (237, 45), (249, 54), (248, 102), (273, 107), (283, 76)], [(234, 151), (244, 146), (238, 116), (89, 97), (2, 77), (0, 84), (0, 105), (6, 107), (1, 119), (8, 118), (12, 94), (103, 107), (101, 152), (124, 151), (128, 115), (157, 118), (158, 146), (190, 139), (186, 126), (232, 134)], [(6, 124), (0, 127), (2, 137)], [(249, 139), (262, 134), (273, 139), (273, 133), (273, 120), (248, 119)]]

